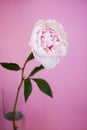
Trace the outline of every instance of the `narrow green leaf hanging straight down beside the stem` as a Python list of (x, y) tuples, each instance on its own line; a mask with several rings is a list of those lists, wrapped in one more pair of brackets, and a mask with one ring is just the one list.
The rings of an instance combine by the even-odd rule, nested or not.
[(24, 99), (25, 102), (27, 101), (28, 97), (30, 96), (32, 92), (32, 84), (29, 78), (24, 80)]

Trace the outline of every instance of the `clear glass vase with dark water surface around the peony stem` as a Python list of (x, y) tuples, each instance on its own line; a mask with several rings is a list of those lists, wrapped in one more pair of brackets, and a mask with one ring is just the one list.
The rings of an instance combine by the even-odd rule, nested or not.
[(13, 112), (16, 93), (17, 90), (2, 89), (4, 130), (25, 130), (22, 93), (20, 93), (17, 101), (16, 112)]

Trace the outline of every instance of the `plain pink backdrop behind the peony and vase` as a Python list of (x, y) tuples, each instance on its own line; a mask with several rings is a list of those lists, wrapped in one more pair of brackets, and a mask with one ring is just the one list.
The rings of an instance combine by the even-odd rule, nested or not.
[[(50, 83), (54, 98), (33, 83), (33, 92), (23, 104), (26, 130), (87, 130), (86, 0), (0, 0), (0, 62), (22, 66), (31, 52), (28, 42), (35, 22), (48, 18), (63, 24), (69, 50), (54, 69), (35, 75)], [(38, 64), (31, 61), (26, 74)], [(2, 88), (15, 92), (19, 80), (20, 72), (0, 67), (0, 130), (4, 129)]]

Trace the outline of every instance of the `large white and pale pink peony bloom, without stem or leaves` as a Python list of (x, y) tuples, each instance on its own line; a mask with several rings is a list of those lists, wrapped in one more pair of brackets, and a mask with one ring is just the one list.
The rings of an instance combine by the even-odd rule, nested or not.
[(46, 69), (51, 69), (66, 55), (67, 34), (55, 20), (39, 20), (29, 42), (33, 55)]

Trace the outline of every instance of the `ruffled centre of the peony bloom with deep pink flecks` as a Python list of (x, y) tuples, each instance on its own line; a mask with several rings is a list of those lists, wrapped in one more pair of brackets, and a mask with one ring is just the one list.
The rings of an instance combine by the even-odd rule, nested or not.
[(54, 50), (59, 43), (58, 34), (48, 26), (43, 27), (37, 32), (37, 39), (37, 43), (39, 43), (46, 52)]

